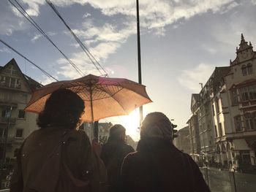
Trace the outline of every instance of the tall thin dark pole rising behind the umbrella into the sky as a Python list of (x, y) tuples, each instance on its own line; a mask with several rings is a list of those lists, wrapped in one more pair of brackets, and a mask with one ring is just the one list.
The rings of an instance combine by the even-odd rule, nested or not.
[[(140, 11), (139, 11), (139, 0), (136, 0), (137, 8), (137, 42), (138, 42), (138, 77), (139, 83), (142, 83), (141, 80), (141, 58), (140, 58)], [(140, 107), (140, 123), (143, 120), (143, 107)]]

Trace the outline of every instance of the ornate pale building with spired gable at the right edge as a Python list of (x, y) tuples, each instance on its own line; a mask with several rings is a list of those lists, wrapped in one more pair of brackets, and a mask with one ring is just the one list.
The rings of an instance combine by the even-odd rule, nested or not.
[[(217, 128), (219, 161), (233, 166), (255, 165), (256, 155), (256, 52), (243, 34), (236, 47), (236, 58), (230, 61), (219, 102), (222, 122)], [(220, 124), (221, 123), (221, 124)]]

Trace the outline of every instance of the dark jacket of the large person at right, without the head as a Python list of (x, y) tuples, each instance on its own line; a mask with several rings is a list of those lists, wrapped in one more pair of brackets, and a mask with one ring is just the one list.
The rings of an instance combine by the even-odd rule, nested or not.
[(140, 139), (137, 150), (124, 159), (119, 191), (209, 191), (195, 161), (170, 141)]

